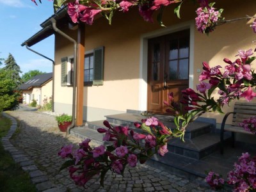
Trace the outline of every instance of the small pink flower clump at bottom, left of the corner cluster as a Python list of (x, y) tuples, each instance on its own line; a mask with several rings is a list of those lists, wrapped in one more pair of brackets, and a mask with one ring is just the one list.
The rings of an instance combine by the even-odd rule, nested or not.
[(205, 177), (205, 181), (212, 189), (222, 189), (225, 183), (224, 179), (218, 173), (212, 171)]

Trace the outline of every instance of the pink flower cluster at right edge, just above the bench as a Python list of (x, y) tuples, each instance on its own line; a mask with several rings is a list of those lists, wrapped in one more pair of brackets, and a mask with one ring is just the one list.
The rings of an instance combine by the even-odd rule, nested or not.
[[(239, 50), (237, 56), (240, 58), (232, 62), (225, 58), (223, 61), (227, 63), (224, 67), (224, 72), (221, 73), (220, 65), (209, 67), (207, 63), (203, 63), (203, 72), (199, 76), (200, 84), (196, 86), (200, 93), (205, 93), (207, 90), (219, 88), (220, 104), (228, 104), (232, 99), (244, 97), (247, 101), (251, 101), (256, 97), (253, 92), (250, 81), (254, 76), (251, 70), (250, 63), (255, 58), (250, 58), (253, 54), (252, 49), (248, 51)], [(206, 82), (205, 82), (206, 81)]]

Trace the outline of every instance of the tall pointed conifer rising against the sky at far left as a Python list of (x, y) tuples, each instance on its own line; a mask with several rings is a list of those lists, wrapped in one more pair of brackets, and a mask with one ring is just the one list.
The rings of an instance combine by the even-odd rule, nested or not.
[(3, 68), (3, 70), (6, 71), (6, 78), (12, 79), (15, 83), (14, 88), (17, 88), (21, 83), (21, 78), (20, 78), (21, 70), (19, 65), (17, 65), (15, 59), (10, 53), (8, 58), (4, 61), (4, 63), (5, 63), (5, 67)]

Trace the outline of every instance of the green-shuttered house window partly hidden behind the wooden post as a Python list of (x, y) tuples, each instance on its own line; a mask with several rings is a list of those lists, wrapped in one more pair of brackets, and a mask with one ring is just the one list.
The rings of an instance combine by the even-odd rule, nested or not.
[[(84, 85), (102, 85), (104, 67), (104, 47), (94, 49), (84, 55)], [(61, 86), (72, 85), (74, 58), (61, 58)]]

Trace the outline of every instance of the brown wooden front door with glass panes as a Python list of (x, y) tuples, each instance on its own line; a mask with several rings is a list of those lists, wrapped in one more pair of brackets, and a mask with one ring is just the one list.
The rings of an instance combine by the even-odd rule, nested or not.
[(178, 102), (188, 83), (189, 29), (148, 40), (148, 111), (165, 113), (167, 94)]

